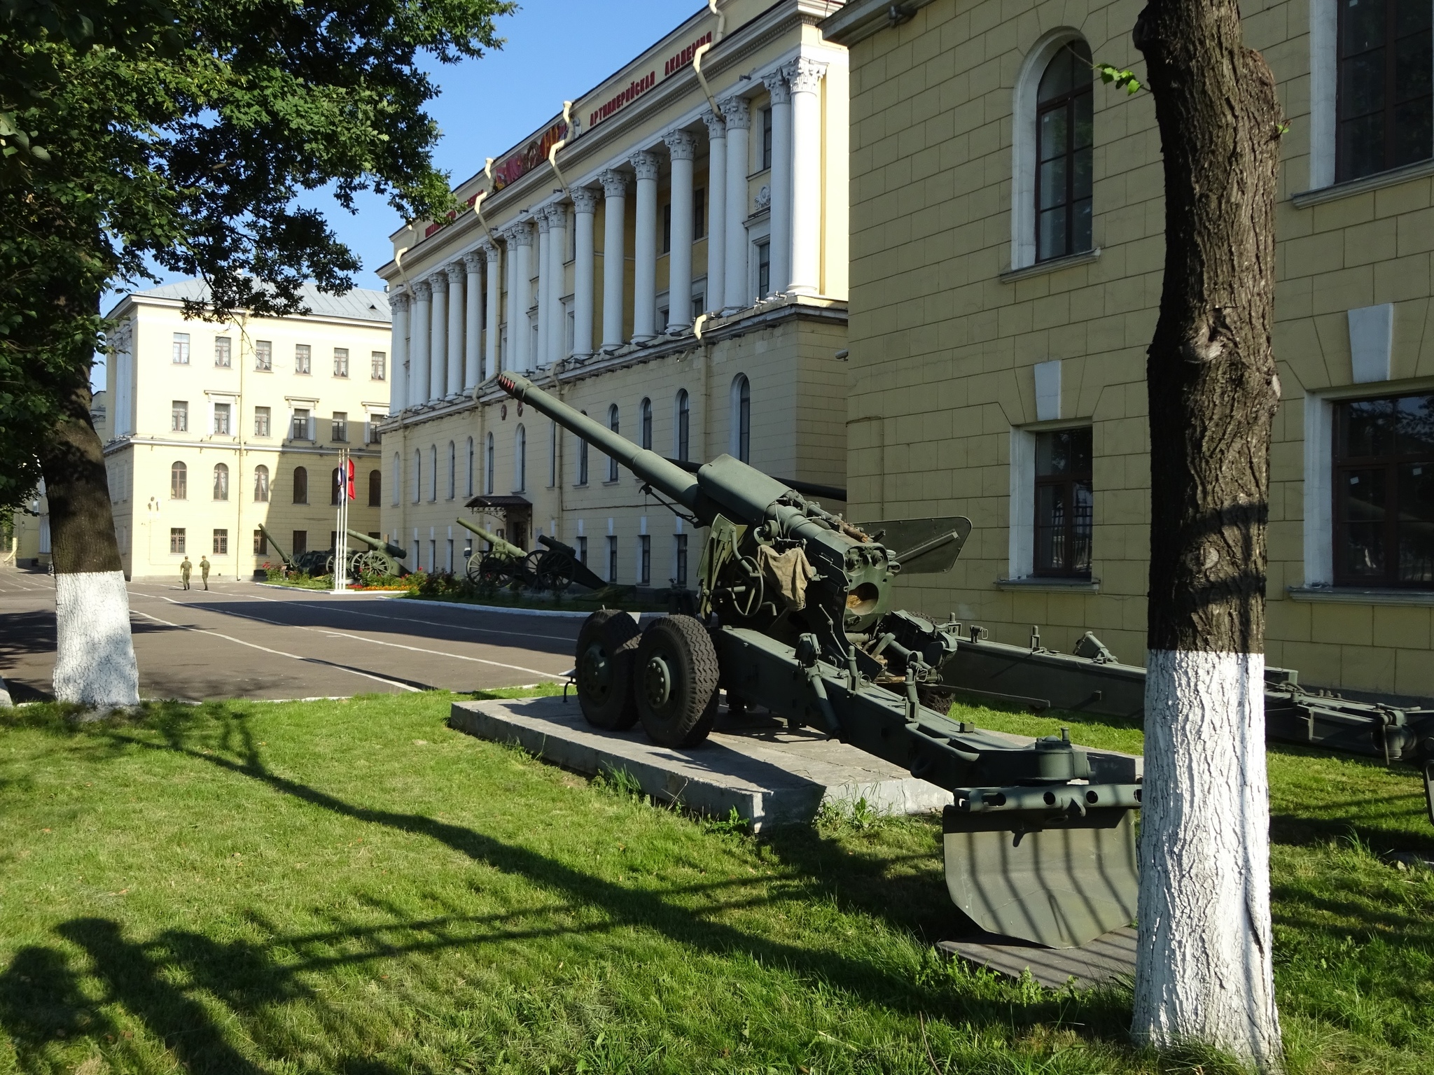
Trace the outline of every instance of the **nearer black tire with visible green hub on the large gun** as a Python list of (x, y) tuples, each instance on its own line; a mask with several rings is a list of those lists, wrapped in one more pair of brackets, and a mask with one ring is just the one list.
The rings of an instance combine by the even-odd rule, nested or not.
[(717, 648), (694, 616), (663, 616), (642, 632), (632, 694), (647, 737), (663, 747), (695, 747), (717, 720)]

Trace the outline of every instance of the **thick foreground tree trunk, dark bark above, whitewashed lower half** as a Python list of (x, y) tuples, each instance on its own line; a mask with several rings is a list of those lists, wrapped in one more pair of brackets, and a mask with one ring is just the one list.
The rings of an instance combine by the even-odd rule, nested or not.
[(1265, 774), (1279, 102), (1235, 0), (1150, 0), (1164, 153), (1147, 361), (1150, 596), (1133, 1033), (1282, 1066)]

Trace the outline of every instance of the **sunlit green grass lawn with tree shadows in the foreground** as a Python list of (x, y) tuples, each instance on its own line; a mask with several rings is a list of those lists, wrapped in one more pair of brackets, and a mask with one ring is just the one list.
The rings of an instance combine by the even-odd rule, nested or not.
[[(938, 959), (935, 818), (753, 840), (450, 731), (452, 699), (0, 715), (0, 1072), (1212, 1071), (1131, 1049), (1120, 990)], [(1291, 1066), (1427, 1072), (1434, 877), (1377, 857), (1434, 853), (1415, 775), (1271, 768)]]

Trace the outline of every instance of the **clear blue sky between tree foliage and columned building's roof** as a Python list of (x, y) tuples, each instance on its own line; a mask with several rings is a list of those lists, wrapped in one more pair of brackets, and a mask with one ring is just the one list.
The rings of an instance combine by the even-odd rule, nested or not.
[[(508, 39), (500, 50), (460, 64), (429, 64), (442, 90), (427, 109), (443, 132), (437, 166), (455, 183), (467, 179), (485, 158), (516, 145), (561, 112), (564, 100), (592, 89), (703, 7), (703, 0), (528, 0), (498, 22), (499, 34)], [(393, 254), (389, 235), (403, 225), (399, 215), (377, 196), (360, 199), (357, 215), (321, 194), (303, 201), (323, 209), (363, 261), (354, 284), (383, 287), (373, 271)], [(118, 298), (112, 295), (102, 310)], [(96, 364), (92, 383), (103, 387), (103, 363)]]

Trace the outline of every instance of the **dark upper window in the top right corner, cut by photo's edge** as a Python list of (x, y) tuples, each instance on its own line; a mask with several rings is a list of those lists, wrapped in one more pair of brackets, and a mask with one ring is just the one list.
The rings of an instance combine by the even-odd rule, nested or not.
[(1434, 155), (1428, 0), (1339, 0), (1338, 179)]

